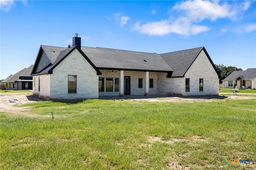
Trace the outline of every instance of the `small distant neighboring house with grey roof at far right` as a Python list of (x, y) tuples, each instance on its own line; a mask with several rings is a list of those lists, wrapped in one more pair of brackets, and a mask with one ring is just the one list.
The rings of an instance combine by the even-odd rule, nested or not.
[(222, 82), (223, 88), (234, 88), (236, 84), (236, 88), (256, 89), (256, 68), (234, 71)]

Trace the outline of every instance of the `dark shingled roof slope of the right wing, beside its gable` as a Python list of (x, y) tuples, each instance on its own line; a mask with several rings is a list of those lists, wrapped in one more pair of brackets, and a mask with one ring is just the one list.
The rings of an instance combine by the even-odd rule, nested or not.
[[(174, 51), (170, 53), (160, 54), (168, 65), (174, 70), (172, 77), (183, 77), (188, 71), (189, 67), (195, 61), (198, 54), (204, 47), (185, 49), (181, 51)], [(206, 54), (207, 55), (207, 54)]]

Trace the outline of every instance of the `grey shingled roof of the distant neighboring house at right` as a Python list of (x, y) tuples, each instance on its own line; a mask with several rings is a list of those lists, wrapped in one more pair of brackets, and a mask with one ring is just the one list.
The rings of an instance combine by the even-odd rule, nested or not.
[(254, 77), (256, 77), (256, 68), (250, 68), (245, 71), (234, 71), (222, 81), (234, 81), (239, 76), (243, 79), (253, 79)]

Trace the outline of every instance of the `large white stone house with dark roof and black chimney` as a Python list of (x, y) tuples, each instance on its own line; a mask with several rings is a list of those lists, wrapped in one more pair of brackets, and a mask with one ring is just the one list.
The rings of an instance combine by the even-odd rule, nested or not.
[(124, 95), (218, 95), (219, 77), (204, 47), (157, 54), (41, 45), (32, 69), (33, 95), (88, 99)]

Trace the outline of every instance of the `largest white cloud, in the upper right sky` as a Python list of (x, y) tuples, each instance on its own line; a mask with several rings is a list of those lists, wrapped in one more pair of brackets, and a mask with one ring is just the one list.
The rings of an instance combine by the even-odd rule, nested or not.
[[(200, 24), (203, 20), (216, 21), (218, 18), (236, 20), (238, 14), (250, 7), (250, 2), (243, 2), (242, 6), (231, 6), (227, 2), (194, 0), (176, 4), (171, 11), (170, 19), (141, 24), (136, 22), (132, 31), (138, 31), (149, 36), (163, 36), (170, 33), (184, 36), (197, 35), (208, 32), (211, 28)], [(177, 18), (172, 12), (180, 12)], [(223, 30), (224, 31), (224, 30)], [(224, 32), (222, 32), (224, 33)]]

